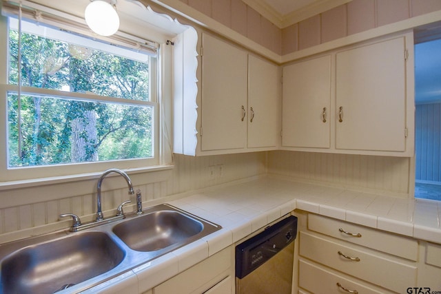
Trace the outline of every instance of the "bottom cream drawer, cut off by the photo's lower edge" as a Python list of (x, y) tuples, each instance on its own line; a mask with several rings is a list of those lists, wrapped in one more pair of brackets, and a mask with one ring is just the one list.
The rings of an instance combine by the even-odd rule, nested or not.
[(384, 289), (378, 291), (374, 287), (363, 285), (353, 278), (345, 277), (340, 273), (334, 273), (323, 266), (311, 264), (306, 260), (299, 260), (299, 281), (301, 288), (316, 294), (345, 293), (338, 284), (350, 291), (357, 291), (359, 294), (385, 293)]

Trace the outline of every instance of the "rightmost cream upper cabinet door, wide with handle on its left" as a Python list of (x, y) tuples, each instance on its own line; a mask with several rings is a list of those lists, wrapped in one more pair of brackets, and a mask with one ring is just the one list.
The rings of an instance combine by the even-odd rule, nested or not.
[(337, 149), (406, 150), (405, 49), (399, 37), (336, 54)]

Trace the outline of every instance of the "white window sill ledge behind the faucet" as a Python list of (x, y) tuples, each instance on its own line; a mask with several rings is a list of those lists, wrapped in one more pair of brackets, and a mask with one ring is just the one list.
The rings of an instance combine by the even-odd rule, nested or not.
[[(173, 169), (174, 165), (156, 165), (153, 167), (139, 167), (134, 169), (123, 169), (127, 175), (132, 174), (142, 174), (149, 173), (152, 171), (164, 171)], [(69, 176), (57, 176), (50, 178), (34, 178), (29, 180), (17, 180), (17, 181), (8, 181), (8, 182), (0, 182), (0, 191), (6, 191), (10, 189), (20, 189), (20, 188), (29, 188), (29, 187), (37, 187), (43, 185), (54, 185), (54, 184), (62, 184), (67, 182), (78, 182), (81, 180), (93, 180), (99, 178), (103, 174), (103, 172), (94, 172), (88, 174), (74, 174)]]

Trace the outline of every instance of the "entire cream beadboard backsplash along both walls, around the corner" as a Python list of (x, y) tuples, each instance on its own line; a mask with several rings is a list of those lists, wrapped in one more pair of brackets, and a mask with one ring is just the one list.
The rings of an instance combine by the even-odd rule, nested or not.
[[(223, 166), (218, 178), (209, 176), (209, 167)], [(131, 174), (135, 189), (141, 189), (145, 205), (161, 198), (225, 182), (275, 174), (363, 191), (378, 191), (409, 197), (409, 158), (322, 154), (295, 151), (269, 151), (219, 156), (174, 156), (174, 168)], [(63, 182), (0, 191), (0, 244), (31, 235), (39, 235), (70, 226), (59, 221), (61, 213), (75, 213), (83, 221), (96, 212), (96, 177), (77, 182)], [(103, 182), (103, 211), (114, 213), (130, 196), (125, 181), (119, 177)], [(132, 202), (135, 202), (132, 196)], [(127, 207), (126, 211), (134, 209)]]

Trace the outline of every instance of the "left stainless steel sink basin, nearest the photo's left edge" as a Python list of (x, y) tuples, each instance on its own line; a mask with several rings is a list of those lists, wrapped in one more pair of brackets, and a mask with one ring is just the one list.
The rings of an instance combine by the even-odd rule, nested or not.
[(124, 251), (103, 232), (27, 246), (1, 262), (2, 293), (54, 293), (114, 269)]

